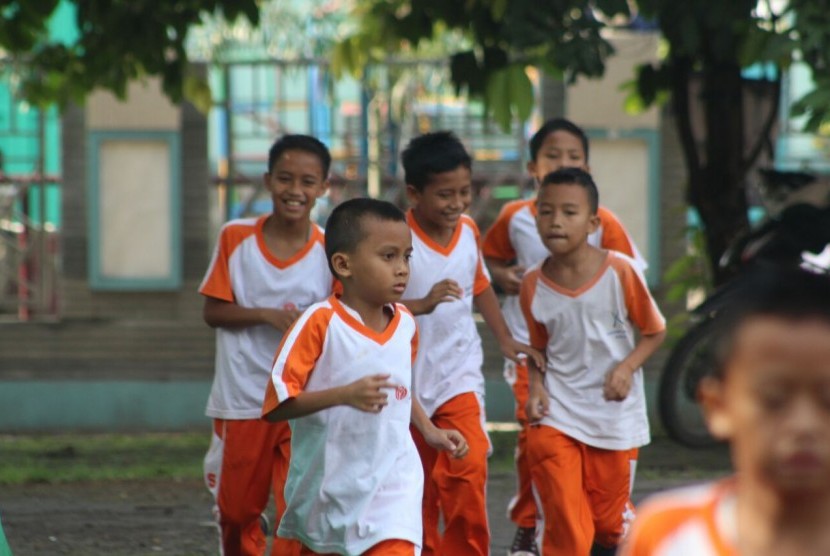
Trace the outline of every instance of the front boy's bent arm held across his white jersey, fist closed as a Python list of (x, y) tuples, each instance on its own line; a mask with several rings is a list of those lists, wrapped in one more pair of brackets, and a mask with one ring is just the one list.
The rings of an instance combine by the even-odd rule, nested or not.
[(395, 385), (389, 382), (389, 376), (371, 375), (345, 386), (314, 392), (303, 391), (281, 402), (264, 417), (269, 421), (285, 421), (338, 405), (350, 405), (367, 413), (380, 413), (388, 403), (388, 396), (383, 390), (395, 388)]

